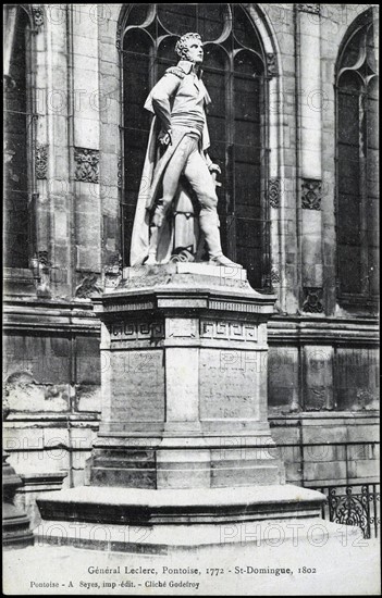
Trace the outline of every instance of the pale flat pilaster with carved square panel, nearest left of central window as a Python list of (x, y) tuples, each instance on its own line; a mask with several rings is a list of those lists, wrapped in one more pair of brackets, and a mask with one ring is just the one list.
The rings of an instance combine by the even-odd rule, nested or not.
[(89, 297), (100, 285), (101, 194), (99, 39), (95, 5), (71, 4), (73, 52), (73, 170), (75, 296)]

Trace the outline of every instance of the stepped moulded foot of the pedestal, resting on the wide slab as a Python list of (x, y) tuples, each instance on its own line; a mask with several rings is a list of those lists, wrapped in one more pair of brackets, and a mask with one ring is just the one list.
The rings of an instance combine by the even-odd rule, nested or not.
[(172, 429), (161, 437), (99, 436), (87, 463), (89, 484), (100, 487), (224, 488), (283, 484), (269, 431), (257, 435), (184, 436)]

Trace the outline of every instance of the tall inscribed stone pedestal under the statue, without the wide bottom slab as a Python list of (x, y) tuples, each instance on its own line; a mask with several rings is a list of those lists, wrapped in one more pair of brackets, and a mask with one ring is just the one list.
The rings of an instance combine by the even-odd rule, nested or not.
[(97, 306), (102, 422), (89, 483), (135, 488), (280, 484), (267, 408), (275, 297), (246, 271), (126, 269)]

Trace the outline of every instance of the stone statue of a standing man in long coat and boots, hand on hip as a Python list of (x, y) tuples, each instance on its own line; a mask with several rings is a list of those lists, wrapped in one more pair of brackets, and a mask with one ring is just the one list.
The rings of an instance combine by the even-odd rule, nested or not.
[(180, 178), (184, 175), (200, 205), (199, 227), (210, 263), (238, 265), (221, 248), (213, 177), (220, 167), (207, 153), (210, 142), (205, 109), (211, 100), (200, 78), (204, 48), (199, 34), (182, 36), (175, 51), (180, 62), (167, 70), (145, 103), (155, 119), (133, 227), (131, 263), (169, 261), (171, 233), (167, 214), (180, 197)]

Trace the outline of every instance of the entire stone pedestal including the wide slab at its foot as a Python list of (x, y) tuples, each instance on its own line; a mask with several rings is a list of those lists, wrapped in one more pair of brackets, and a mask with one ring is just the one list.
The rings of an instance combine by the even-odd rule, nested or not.
[[(171, 545), (174, 526), (183, 537), (192, 524), (196, 545), (212, 526), (208, 541), (219, 544), (224, 523), (320, 518), (324, 496), (285, 485), (274, 454), (267, 406), (274, 301), (242, 269), (125, 270), (96, 304), (103, 402), (87, 485), (38, 499), (48, 520), (42, 541), (75, 544), (75, 526), (97, 522), (114, 538), (111, 549), (132, 525), (150, 534), (159, 526), (158, 546)], [(49, 521), (74, 532), (47, 538)]]

